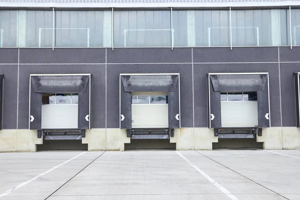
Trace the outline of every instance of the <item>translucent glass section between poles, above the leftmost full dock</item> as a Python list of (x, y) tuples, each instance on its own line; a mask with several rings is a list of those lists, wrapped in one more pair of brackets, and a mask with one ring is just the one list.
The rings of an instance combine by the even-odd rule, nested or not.
[[(105, 13), (105, 14), (104, 14)], [(101, 10), (55, 11), (57, 47), (111, 46), (111, 12)]]

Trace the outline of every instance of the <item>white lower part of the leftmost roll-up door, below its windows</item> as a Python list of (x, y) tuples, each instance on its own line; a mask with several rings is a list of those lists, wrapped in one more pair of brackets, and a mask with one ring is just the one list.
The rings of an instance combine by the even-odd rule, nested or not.
[(42, 105), (41, 128), (78, 128), (78, 104)]

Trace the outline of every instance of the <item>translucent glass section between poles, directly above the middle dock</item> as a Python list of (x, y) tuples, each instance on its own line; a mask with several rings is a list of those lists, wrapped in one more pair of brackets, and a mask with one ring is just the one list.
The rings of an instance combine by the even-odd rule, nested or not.
[(169, 10), (116, 10), (114, 14), (114, 46), (171, 46)]

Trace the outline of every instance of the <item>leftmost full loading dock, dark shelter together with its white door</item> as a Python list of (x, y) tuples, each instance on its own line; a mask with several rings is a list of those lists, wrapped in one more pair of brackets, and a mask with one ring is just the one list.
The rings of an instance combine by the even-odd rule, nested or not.
[[(90, 128), (91, 74), (30, 74), (29, 79), (29, 129)], [(76, 104), (44, 105), (45, 93), (56, 100), (56, 94), (76, 94)]]

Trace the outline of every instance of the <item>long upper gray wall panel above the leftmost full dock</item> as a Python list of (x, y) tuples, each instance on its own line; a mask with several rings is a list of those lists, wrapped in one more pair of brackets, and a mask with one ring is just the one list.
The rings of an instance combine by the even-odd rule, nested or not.
[(105, 48), (20, 48), (19, 63), (105, 63)]

